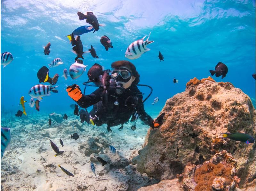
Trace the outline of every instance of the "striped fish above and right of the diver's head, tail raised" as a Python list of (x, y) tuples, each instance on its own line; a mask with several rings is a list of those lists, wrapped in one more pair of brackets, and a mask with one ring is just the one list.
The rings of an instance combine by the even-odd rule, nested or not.
[[(148, 35), (148, 39), (149, 39), (150, 33)], [(149, 41), (148, 39), (146, 41), (143, 41), (146, 36), (144, 36), (143, 38), (137, 41), (132, 42), (132, 44), (128, 46), (125, 52), (126, 58), (134, 60), (139, 58), (143, 53), (148, 52), (150, 50), (149, 48), (147, 48), (147, 45), (151, 44), (154, 41)]]

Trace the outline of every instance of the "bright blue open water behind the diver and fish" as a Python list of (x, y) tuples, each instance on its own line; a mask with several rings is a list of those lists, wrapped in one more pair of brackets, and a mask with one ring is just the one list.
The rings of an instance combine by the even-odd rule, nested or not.
[[(153, 94), (145, 102), (146, 111), (161, 111), (166, 100), (182, 92), (186, 83), (196, 77), (210, 76), (209, 70), (221, 61), (228, 66), (227, 76), (218, 82), (229, 81), (236, 88), (255, 99), (255, 1), (1, 1), (1, 53), (11, 52), (14, 60), (5, 68), (1, 66), (1, 113), (13, 115), (22, 110), (20, 97), (29, 101), (29, 89), (38, 84), (36, 73), (56, 57), (64, 62), (50, 69), (50, 76), (60, 75), (59, 93), (44, 97), (40, 112), (25, 104), (29, 115), (70, 111), (75, 103), (66, 92), (74, 83), (81, 89), (88, 80), (87, 72), (80, 78), (64, 80), (63, 69), (69, 69), (76, 55), (66, 35), (77, 27), (88, 25), (80, 21), (77, 11), (92, 11), (97, 16), (100, 30), (81, 35), (84, 51), (91, 45), (99, 59), (84, 54), (87, 70), (94, 64), (110, 68), (112, 62), (126, 60), (125, 50), (135, 40), (148, 35), (155, 41), (151, 50), (136, 60), (130, 60), (140, 73), (140, 84), (152, 86)], [(113, 49), (106, 51), (100, 37), (107, 35)], [(43, 46), (51, 42), (49, 56), (42, 54)], [(158, 51), (164, 56), (160, 62)], [(172, 82), (173, 78), (178, 84)], [(48, 85), (48, 84), (45, 84)], [(149, 89), (140, 88), (147, 95)], [(91, 93), (93, 88), (88, 88)], [(154, 97), (159, 102), (151, 105)], [(24, 117), (24, 116), (22, 116)]]

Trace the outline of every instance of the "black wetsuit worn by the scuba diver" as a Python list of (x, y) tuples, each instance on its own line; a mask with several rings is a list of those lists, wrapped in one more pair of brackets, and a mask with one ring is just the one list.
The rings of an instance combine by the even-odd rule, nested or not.
[[(138, 104), (136, 107), (128, 107), (125, 103), (129, 96), (137, 96)], [(118, 105), (114, 104), (118, 102)], [(116, 102), (116, 103), (117, 103)], [(142, 93), (136, 85), (132, 85), (130, 88), (125, 89), (124, 93), (117, 95), (111, 89), (107, 91), (98, 88), (90, 95), (82, 95), (77, 101), (77, 104), (82, 108), (87, 108), (93, 105), (93, 109), (90, 115), (95, 115), (99, 120), (94, 121), (96, 126), (107, 124), (108, 126), (122, 125), (129, 120), (129, 118), (137, 111), (138, 117), (148, 126), (153, 126), (152, 119), (144, 110), (144, 104), (142, 102)]]

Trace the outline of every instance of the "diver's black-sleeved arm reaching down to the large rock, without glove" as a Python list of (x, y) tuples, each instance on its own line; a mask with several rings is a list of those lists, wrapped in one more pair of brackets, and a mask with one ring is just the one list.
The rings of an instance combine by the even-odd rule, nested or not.
[(154, 128), (154, 119), (150, 117), (144, 110), (144, 103), (142, 102), (142, 96), (138, 96), (138, 105), (136, 106), (136, 111), (141, 121), (150, 127)]

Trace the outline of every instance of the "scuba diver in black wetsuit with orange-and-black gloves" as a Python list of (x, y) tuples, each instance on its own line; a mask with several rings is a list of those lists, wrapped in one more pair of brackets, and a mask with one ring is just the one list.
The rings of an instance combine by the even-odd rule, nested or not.
[[(131, 116), (135, 123), (137, 118), (140, 118), (142, 122), (152, 128), (161, 126), (164, 113), (154, 120), (144, 110), (145, 100), (142, 101), (142, 93), (137, 87), (140, 74), (136, 71), (135, 66), (129, 61), (121, 60), (113, 62), (111, 68), (112, 72), (110, 70), (103, 71), (99, 64), (94, 64), (90, 68), (88, 71), (90, 81), (88, 82), (93, 82), (99, 88), (89, 95), (82, 94), (80, 87), (76, 84), (68, 86), (66, 89), (68, 96), (75, 100), (81, 108), (93, 105), (90, 113), (86, 109), (86, 112), (83, 112), (83, 114), (87, 113), (85, 121), (96, 126), (107, 124), (108, 132), (112, 132), (111, 126), (117, 125), (121, 125), (119, 130), (122, 130), (124, 123), (127, 123)], [(84, 85), (86, 85), (85, 83), (87, 82), (84, 82)], [(132, 130), (135, 129), (136, 125), (133, 124)]]

